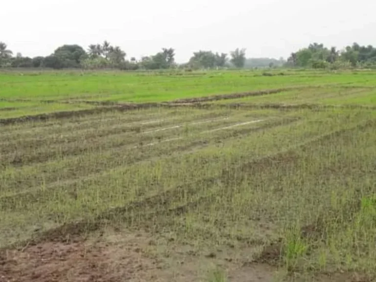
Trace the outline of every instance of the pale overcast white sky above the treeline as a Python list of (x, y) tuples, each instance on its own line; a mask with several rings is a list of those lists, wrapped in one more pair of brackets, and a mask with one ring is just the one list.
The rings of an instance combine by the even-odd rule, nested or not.
[(318, 42), (376, 46), (375, 0), (4, 0), (0, 41), (14, 54), (46, 56), (64, 44), (109, 41), (127, 57), (173, 47), (176, 61), (197, 50), (288, 57)]

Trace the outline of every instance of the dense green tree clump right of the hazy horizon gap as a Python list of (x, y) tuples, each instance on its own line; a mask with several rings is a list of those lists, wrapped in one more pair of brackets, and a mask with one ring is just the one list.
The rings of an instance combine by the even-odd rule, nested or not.
[(291, 53), (286, 67), (314, 69), (376, 68), (376, 47), (353, 43), (342, 50), (313, 43)]

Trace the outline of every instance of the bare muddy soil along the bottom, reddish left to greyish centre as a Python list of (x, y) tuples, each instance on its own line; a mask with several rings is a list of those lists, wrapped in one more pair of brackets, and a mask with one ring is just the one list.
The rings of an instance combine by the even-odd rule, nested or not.
[[(0, 253), (0, 282), (120, 282), (207, 281), (219, 262), (216, 256), (197, 258), (175, 252), (171, 258), (147, 252), (155, 241), (144, 234), (118, 234), (95, 241), (43, 242)], [(150, 242), (153, 242), (151, 244)], [(229, 262), (231, 281), (269, 282), (267, 265), (236, 266)]]

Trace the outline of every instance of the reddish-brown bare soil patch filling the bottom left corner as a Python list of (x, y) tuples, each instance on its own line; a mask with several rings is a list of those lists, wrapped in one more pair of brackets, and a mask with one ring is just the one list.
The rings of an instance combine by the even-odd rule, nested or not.
[(140, 252), (140, 240), (121, 245), (46, 242), (8, 250), (0, 256), (0, 281), (157, 281), (162, 265)]

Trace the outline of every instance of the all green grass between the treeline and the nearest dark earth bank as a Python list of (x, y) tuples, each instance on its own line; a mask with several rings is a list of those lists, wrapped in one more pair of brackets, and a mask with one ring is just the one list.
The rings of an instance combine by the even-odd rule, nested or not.
[[(270, 96), (244, 98), (247, 102), (320, 101), (375, 104), (373, 72), (3, 72), (0, 74), (0, 118), (92, 108), (89, 102), (144, 103), (173, 101), (214, 94), (265, 89), (311, 87)], [(318, 88), (320, 87), (320, 88)], [(351, 88), (349, 88), (351, 87)], [(359, 88), (356, 88), (359, 87)], [(366, 87), (366, 88), (365, 88)], [(359, 94), (360, 93), (360, 94)], [(305, 100), (307, 99), (307, 100)], [(48, 102), (48, 103), (46, 103)]]

